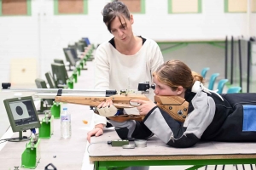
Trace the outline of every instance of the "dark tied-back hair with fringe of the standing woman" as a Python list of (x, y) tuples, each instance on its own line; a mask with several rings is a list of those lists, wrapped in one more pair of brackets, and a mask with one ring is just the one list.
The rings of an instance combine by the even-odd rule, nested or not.
[[(125, 16), (128, 20), (130, 20), (130, 12), (125, 3), (119, 2), (118, 0), (113, 1), (112, 3), (108, 3), (102, 10), (103, 22), (108, 27), (108, 31), (111, 32), (111, 23), (115, 19), (115, 17), (119, 18), (120, 23), (121, 18)], [(126, 23), (125, 23), (126, 24)]]

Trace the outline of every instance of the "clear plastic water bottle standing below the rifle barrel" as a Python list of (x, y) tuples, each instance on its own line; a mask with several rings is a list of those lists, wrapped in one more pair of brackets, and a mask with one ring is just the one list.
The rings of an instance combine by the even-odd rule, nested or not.
[(61, 137), (64, 139), (71, 137), (71, 116), (67, 112), (67, 107), (61, 111)]

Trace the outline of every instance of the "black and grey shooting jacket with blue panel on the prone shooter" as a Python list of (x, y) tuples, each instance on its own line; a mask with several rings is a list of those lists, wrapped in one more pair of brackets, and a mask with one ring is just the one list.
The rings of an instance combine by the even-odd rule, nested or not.
[[(187, 90), (188, 91), (188, 90)], [(177, 122), (157, 106), (143, 122), (113, 122), (121, 139), (148, 139), (156, 135), (165, 144), (191, 147), (200, 140), (256, 141), (256, 94), (196, 94), (186, 92), (189, 116)]]

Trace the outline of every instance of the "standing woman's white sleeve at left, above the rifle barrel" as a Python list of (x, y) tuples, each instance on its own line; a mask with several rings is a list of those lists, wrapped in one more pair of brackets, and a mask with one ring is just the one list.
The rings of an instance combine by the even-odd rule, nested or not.
[(102, 46), (96, 49), (95, 54), (95, 84), (94, 88), (109, 89), (109, 61), (108, 54)]

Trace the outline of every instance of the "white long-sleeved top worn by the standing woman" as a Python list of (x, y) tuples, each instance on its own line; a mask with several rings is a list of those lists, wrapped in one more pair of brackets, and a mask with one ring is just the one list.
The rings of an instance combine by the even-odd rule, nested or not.
[[(152, 73), (164, 63), (156, 42), (146, 39), (142, 48), (134, 55), (120, 54), (110, 42), (103, 42), (95, 54), (95, 88), (137, 90), (139, 82), (152, 84)], [(151, 90), (148, 96), (153, 99)], [(96, 124), (107, 124), (104, 116), (95, 115)]]

